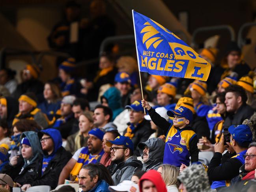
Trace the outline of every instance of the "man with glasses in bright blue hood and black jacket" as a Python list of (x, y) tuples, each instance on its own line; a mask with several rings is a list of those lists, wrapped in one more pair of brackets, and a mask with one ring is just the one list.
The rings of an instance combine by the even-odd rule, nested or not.
[(62, 147), (62, 136), (57, 129), (41, 130), (37, 133), (43, 150), (40, 175), (32, 182), (23, 185), (22, 190), (31, 186), (50, 185), (56, 188), (60, 172), (72, 157), (71, 153)]

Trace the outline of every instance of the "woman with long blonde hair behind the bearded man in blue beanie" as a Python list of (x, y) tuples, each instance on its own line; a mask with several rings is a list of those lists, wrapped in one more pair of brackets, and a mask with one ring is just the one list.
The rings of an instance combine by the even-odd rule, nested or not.
[(92, 112), (83, 112), (79, 116), (79, 131), (69, 137), (67, 137), (67, 145), (65, 149), (72, 154), (75, 153), (81, 147), (87, 146), (87, 140), (89, 138), (88, 132), (93, 128), (93, 114)]

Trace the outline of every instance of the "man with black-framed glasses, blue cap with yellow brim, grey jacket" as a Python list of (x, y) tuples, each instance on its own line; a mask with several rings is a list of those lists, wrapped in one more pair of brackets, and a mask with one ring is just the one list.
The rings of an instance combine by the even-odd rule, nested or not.
[(133, 142), (128, 137), (118, 136), (114, 141), (107, 141), (106, 145), (110, 147), (111, 161), (117, 164), (112, 171), (112, 179), (114, 185), (118, 185), (131, 177), (141, 162), (133, 156)]

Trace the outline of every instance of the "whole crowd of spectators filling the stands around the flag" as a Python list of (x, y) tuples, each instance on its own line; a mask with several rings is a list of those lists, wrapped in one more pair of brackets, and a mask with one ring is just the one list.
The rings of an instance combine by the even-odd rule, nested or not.
[[(112, 52), (78, 77), (78, 50), (97, 56), (102, 39), (93, 38), (114, 34), (103, 1), (90, 9), (83, 21), (69, 2), (49, 35), (50, 47), (73, 56), (57, 60), (58, 77), (43, 83), (29, 64), (18, 83), (15, 71), (0, 70), (0, 190), (77, 183), (83, 192), (254, 191), (256, 73), (237, 44), (221, 63), (216, 48), (200, 50), (212, 65), (207, 82), (148, 75), (141, 88), (135, 58)], [(72, 22), (81, 24), (76, 44), (68, 41)], [(199, 156), (209, 152), (205, 163)]]

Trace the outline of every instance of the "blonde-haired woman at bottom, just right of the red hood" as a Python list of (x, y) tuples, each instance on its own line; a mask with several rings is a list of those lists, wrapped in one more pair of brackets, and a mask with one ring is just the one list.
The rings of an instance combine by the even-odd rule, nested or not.
[(163, 164), (159, 166), (157, 172), (162, 175), (164, 183), (167, 188), (167, 192), (179, 192), (177, 186), (177, 177), (179, 170), (173, 165)]

